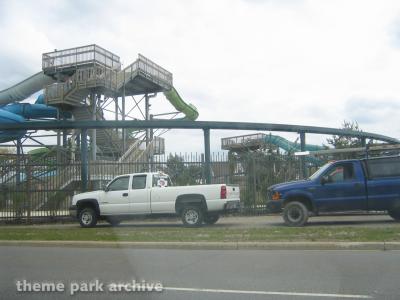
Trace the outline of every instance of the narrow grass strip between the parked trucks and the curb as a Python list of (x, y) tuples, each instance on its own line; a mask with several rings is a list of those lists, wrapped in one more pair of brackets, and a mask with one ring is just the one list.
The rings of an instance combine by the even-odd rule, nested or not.
[(290, 228), (184, 228), (184, 227), (95, 227), (58, 226), (0, 227), (0, 240), (59, 241), (137, 241), (137, 242), (256, 242), (256, 241), (400, 241), (399, 227), (332, 227)]

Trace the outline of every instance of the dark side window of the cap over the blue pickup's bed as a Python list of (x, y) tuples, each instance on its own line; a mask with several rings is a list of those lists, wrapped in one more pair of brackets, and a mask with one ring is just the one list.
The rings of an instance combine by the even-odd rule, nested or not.
[(367, 169), (370, 178), (400, 176), (400, 157), (368, 160)]

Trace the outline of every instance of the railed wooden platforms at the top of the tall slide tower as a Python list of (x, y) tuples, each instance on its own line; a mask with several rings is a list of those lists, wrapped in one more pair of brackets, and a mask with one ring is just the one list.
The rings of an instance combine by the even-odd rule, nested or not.
[(58, 80), (47, 86), (46, 102), (81, 106), (91, 92), (121, 97), (168, 91), (173, 86), (172, 73), (141, 54), (121, 68), (118, 55), (97, 45), (44, 53), (44, 74)]

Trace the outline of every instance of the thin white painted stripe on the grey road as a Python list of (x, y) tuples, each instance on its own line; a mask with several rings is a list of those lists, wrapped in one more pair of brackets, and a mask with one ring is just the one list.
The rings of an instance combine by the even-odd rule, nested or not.
[(281, 295), (281, 296), (300, 296), (300, 297), (372, 299), (372, 297), (369, 295), (222, 290), (222, 289), (180, 288), (180, 287), (171, 287), (171, 286), (165, 286), (165, 287), (163, 287), (163, 290), (181, 291), (181, 292), (226, 293), (226, 294), (252, 294), (252, 295)]

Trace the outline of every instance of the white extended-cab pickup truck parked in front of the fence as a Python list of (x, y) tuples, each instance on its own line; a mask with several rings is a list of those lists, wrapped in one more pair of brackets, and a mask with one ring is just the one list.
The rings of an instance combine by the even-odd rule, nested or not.
[(214, 224), (219, 215), (237, 210), (239, 187), (226, 184), (172, 186), (164, 173), (135, 173), (114, 178), (104, 190), (76, 194), (72, 198), (71, 216), (82, 227), (93, 227), (99, 219), (118, 225), (138, 215), (182, 217), (188, 227)]

